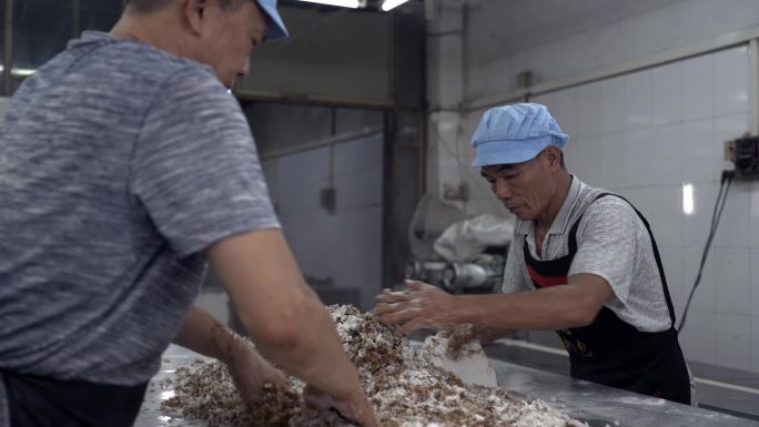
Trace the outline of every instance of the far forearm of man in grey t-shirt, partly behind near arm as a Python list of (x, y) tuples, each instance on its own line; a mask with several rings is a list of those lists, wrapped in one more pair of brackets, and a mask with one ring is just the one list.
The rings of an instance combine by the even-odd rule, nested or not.
[(174, 344), (229, 364), (240, 339), (224, 324), (193, 306), (174, 337)]

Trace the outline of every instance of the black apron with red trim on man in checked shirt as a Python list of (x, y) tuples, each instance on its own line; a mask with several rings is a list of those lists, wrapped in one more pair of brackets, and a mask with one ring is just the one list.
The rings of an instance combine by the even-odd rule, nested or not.
[[(623, 199), (616, 194), (601, 193), (596, 200), (607, 195)], [(648, 222), (635, 206), (632, 209), (646, 225), (651, 238), (672, 326), (664, 332), (640, 332), (604, 306), (590, 325), (556, 333), (569, 353), (570, 373), (574, 378), (690, 405), (690, 378), (677, 340), (675, 309), (669, 297), (659, 250)], [(581, 218), (583, 215), (569, 232), (569, 253), (559, 258), (533, 258), (525, 240), (525, 262), (536, 288), (568, 283), (567, 274), (577, 253), (577, 227)]]

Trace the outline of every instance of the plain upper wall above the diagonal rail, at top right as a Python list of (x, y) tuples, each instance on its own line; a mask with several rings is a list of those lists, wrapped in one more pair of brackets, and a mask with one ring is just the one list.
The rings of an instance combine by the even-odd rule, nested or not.
[[(756, 0), (473, 0), (468, 4), (464, 49), (472, 64), (466, 88), (470, 99), (514, 91), (523, 71), (532, 71), (538, 82), (553, 82), (759, 24)], [(740, 81), (740, 75), (736, 78)], [(709, 105), (688, 104), (688, 109), (701, 106)]]

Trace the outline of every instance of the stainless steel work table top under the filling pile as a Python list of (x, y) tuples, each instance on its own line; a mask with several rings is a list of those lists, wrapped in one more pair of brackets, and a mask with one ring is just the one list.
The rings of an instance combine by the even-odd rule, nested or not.
[[(161, 372), (148, 387), (145, 401), (140, 409), (135, 426), (204, 426), (199, 421), (165, 417), (159, 410), (161, 398), (172, 394), (171, 388), (161, 388), (159, 382), (170, 377), (178, 367), (190, 365), (199, 358), (206, 359), (179, 346), (172, 345), (166, 349), (162, 357)], [(563, 413), (588, 423), (591, 427), (607, 425), (609, 427), (759, 427), (759, 423), (749, 419), (576, 380), (564, 375), (503, 360), (490, 359), (490, 364), (496, 370), (498, 385), (513, 395), (545, 400)]]

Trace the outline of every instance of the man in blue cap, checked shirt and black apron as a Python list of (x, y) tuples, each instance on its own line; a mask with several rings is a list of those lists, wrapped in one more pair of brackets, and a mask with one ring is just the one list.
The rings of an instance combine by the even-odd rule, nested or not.
[(503, 295), (453, 296), (419, 282), (377, 297), (402, 332), (470, 323), (494, 338), (555, 329), (571, 376), (690, 404), (661, 260), (646, 218), (618, 195), (570, 175), (568, 140), (544, 105), (488, 110), (473, 165), (517, 216)]

